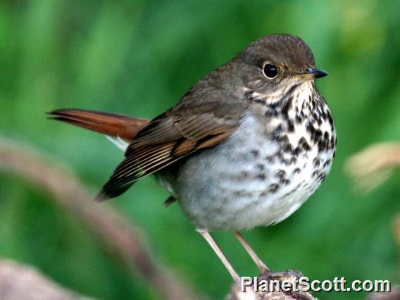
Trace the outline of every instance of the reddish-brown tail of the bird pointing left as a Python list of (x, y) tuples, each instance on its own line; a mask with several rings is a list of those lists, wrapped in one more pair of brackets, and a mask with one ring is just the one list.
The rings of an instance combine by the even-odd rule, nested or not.
[(83, 127), (96, 132), (121, 137), (132, 141), (137, 133), (146, 127), (150, 120), (132, 118), (117, 113), (86, 111), (83, 109), (56, 109), (49, 113), (51, 119)]

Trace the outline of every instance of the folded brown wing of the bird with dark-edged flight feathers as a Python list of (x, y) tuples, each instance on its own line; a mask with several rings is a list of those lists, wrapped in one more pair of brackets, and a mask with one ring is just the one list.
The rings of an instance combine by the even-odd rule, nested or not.
[(161, 115), (139, 132), (128, 146), (125, 160), (99, 192), (99, 201), (125, 192), (136, 180), (189, 154), (223, 142), (235, 131), (240, 115)]

